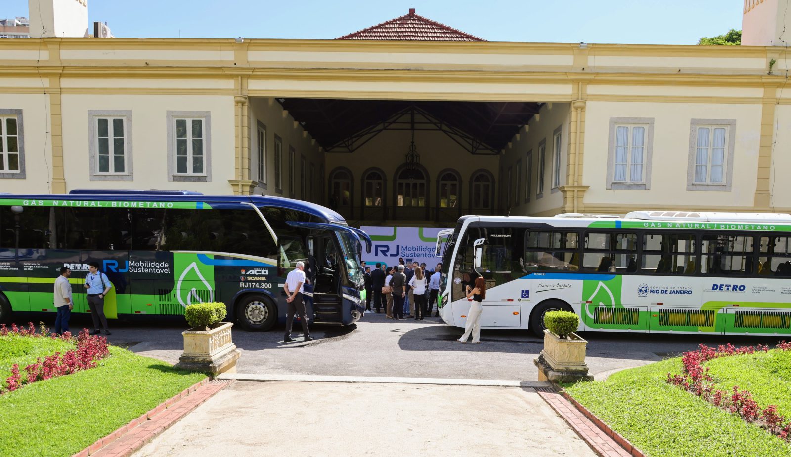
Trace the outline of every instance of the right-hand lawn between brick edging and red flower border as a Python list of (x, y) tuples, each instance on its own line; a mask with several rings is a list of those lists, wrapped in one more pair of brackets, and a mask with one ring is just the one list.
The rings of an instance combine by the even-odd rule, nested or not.
[[(745, 367), (743, 357), (750, 356), (716, 361), (717, 365), (736, 366), (732, 376), (740, 378), (752, 369), (750, 365)], [(707, 365), (712, 366), (713, 376), (718, 376), (720, 367), (714, 366), (713, 361)], [(668, 372), (681, 373), (680, 358), (627, 369), (604, 382), (574, 384), (566, 390), (651, 457), (791, 455), (791, 447), (780, 438), (667, 384)], [(789, 397), (785, 399), (782, 407), (788, 409)], [(763, 404), (763, 399), (759, 402)]]

